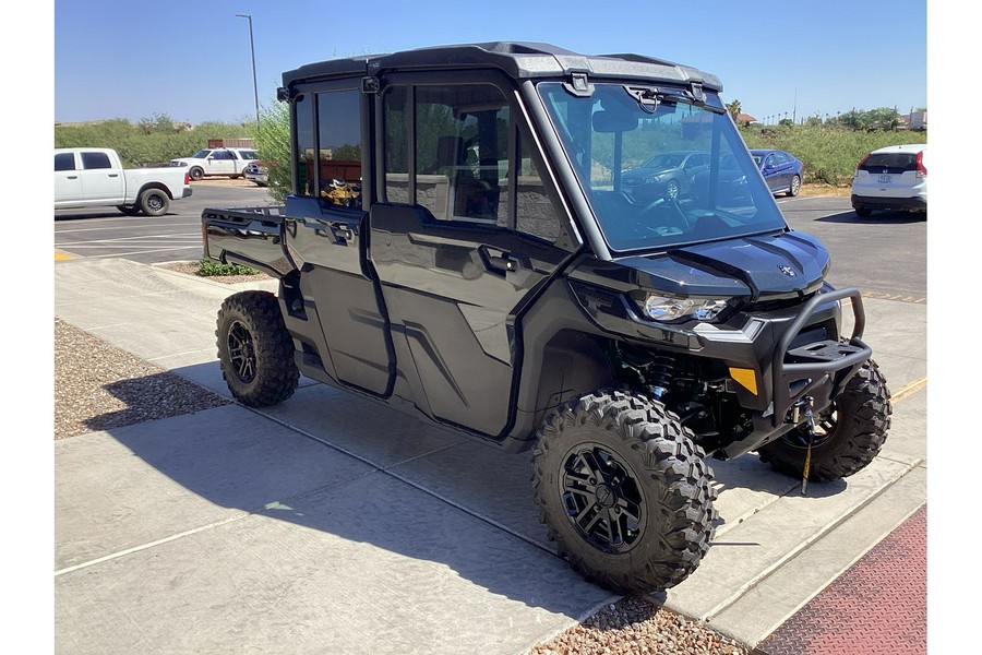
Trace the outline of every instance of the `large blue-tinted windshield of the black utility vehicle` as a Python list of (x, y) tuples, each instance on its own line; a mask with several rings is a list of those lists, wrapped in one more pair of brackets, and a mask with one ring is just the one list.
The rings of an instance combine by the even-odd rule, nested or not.
[(594, 84), (589, 95), (559, 82), (538, 90), (612, 250), (786, 228), (717, 96), (700, 105), (681, 90), (637, 85)]

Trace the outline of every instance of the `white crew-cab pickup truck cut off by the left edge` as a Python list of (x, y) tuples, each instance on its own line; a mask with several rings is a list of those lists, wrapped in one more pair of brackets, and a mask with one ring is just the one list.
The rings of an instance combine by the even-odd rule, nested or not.
[(116, 205), (123, 214), (163, 216), (171, 200), (191, 195), (180, 168), (123, 168), (107, 147), (55, 148), (55, 209)]

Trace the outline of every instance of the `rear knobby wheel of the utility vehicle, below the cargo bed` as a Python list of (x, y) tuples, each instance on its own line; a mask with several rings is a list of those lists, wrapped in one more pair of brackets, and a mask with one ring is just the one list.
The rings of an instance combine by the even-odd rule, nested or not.
[(297, 390), (300, 372), (279, 302), (268, 291), (240, 291), (218, 310), (218, 360), (229, 391), (243, 405), (266, 407)]

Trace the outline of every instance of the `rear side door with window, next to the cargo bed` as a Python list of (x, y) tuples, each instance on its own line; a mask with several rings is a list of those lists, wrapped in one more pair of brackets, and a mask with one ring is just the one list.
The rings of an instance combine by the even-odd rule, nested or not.
[[(300, 290), (320, 325), (324, 372), (371, 395), (392, 394), (395, 367), (378, 276), (368, 261), (368, 214), (357, 179), (335, 182), (331, 163), (361, 162), (360, 88), (328, 87), (295, 105), (297, 193), (287, 199), (287, 248), (303, 270)], [(357, 167), (360, 169), (360, 165)], [(352, 170), (349, 177), (360, 176)]]

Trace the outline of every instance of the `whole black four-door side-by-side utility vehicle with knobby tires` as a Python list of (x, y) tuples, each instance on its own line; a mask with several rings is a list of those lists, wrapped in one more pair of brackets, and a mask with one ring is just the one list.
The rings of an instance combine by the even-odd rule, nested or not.
[(232, 394), (279, 403), (302, 372), (534, 449), (577, 571), (679, 584), (718, 521), (707, 455), (836, 479), (890, 421), (860, 293), (824, 281), (828, 252), (788, 227), (720, 92), (518, 43), (285, 73), (292, 194), (202, 216), (207, 257), (279, 279), (221, 306)]

